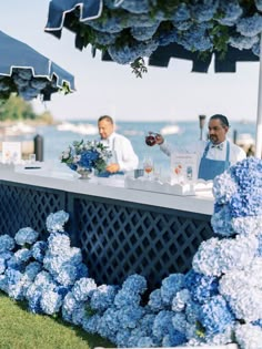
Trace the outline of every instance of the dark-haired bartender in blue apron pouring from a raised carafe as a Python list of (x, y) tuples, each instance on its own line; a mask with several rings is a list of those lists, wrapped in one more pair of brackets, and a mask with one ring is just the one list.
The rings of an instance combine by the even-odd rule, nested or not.
[[(224, 115), (215, 114), (209, 120), (209, 141), (199, 141), (183, 152), (195, 153), (199, 157), (199, 175), (201, 179), (213, 179), (231, 165), (246, 157), (245, 152), (226, 140), (229, 121)], [(171, 150), (161, 134), (155, 135), (155, 144), (168, 156), (178, 150)], [(152, 144), (153, 145), (153, 144)]]

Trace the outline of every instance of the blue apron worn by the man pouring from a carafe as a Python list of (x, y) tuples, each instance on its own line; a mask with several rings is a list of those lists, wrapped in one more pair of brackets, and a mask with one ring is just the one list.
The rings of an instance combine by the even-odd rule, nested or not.
[(230, 144), (229, 141), (226, 142), (226, 154), (225, 160), (211, 160), (206, 158), (206, 154), (209, 152), (211, 142), (209, 142), (204, 148), (204, 153), (201, 157), (200, 165), (199, 165), (199, 178), (209, 181), (213, 179), (215, 176), (223, 173), (230, 166)]

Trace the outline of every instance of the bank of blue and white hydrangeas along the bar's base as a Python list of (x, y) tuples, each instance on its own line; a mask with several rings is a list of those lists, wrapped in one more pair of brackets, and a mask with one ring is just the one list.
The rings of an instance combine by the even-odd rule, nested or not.
[(0, 236), (0, 289), (27, 300), (33, 312), (61, 314), (118, 347), (235, 342), (240, 349), (259, 349), (261, 181), (262, 161), (254, 157), (215, 178), (212, 226), (218, 236), (201, 244), (191, 270), (164, 278), (148, 301), (147, 280), (140, 275), (119, 286), (98, 286), (89, 277), (81, 250), (70, 246), (63, 228), (69, 215), (62, 211), (48, 216), (47, 242), (37, 240), (38, 233), (29, 227), (14, 238)]

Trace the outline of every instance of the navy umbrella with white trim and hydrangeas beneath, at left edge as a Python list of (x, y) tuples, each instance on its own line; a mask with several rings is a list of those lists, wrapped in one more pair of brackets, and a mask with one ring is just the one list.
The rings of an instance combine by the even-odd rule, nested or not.
[(0, 99), (18, 93), (24, 100), (63, 90), (74, 91), (74, 78), (28, 44), (0, 31)]

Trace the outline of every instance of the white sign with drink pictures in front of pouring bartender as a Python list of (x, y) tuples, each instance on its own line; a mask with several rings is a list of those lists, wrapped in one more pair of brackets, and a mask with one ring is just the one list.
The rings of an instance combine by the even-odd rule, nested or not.
[(198, 181), (198, 155), (173, 153), (171, 155), (171, 178), (174, 183), (194, 183)]

